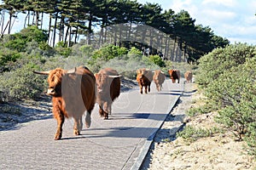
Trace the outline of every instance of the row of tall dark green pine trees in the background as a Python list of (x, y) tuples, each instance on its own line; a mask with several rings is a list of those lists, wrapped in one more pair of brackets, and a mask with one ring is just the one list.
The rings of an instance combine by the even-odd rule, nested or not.
[[(224, 47), (229, 44), (226, 38), (214, 35), (209, 26), (195, 25), (187, 11), (175, 14), (172, 9), (163, 11), (157, 3), (141, 4), (131, 0), (84, 0), (84, 1), (16, 1), (5, 0), (0, 6), (1, 10), (1, 37), (4, 32), (10, 33), (18, 14), (26, 14), (24, 27), (37, 26), (39, 29), (48, 27), (47, 37), (49, 44), (62, 41), (67, 46), (77, 43), (79, 37), (85, 37), (87, 44), (102, 45), (108, 40), (108, 26), (126, 23), (130, 29), (116, 30), (114, 44), (122, 45), (121, 35), (130, 37), (132, 25), (151, 26), (165, 33), (165, 38), (172, 38), (174, 44), (166, 39), (158, 39), (166, 46), (174, 45), (183, 51), (183, 56), (190, 60), (199, 59), (202, 55), (212, 51), (213, 48)], [(9, 14), (9, 19), (5, 19)], [(49, 17), (49, 23), (43, 23)], [(5, 20), (8, 20), (7, 22)], [(7, 23), (5, 26), (4, 23)], [(99, 29), (100, 28), (100, 29)], [(99, 31), (96, 31), (99, 30)], [(143, 39), (143, 35), (138, 34)], [(145, 36), (152, 36), (145, 35)], [(161, 37), (164, 38), (164, 37)], [(151, 48), (150, 39), (148, 47)], [(140, 46), (141, 48), (143, 45)], [(152, 50), (152, 49), (151, 49)], [(172, 49), (172, 50), (175, 50)], [(165, 51), (161, 53), (171, 55)], [(179, 54), (181, 55), (181, 54)], [(168, 57), (167, 57), (168, 59)]]

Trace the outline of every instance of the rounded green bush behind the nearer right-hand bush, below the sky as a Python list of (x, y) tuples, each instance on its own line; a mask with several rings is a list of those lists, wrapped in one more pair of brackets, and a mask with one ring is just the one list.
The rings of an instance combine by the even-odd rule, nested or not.
[(201, 88), (207, 88), (207, 85), (217, 80), (224, 71), (230, 71), (232, 67), (245, 63), (246, 59), (253, 58), (255, 49), (242, 43), (214, 49), (199, 59), (197, 83)]

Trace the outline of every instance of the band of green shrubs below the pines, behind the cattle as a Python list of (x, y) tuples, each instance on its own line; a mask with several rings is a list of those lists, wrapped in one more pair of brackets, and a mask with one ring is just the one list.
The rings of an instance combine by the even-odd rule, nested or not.
[[(71, 48), (65, 47), (63, 42), (52, 48), (46, 40), (46, 32), (30, 26), (0, 41), (0, 103), (40, 99), (47, 88), (47, 79), (32, 71), (57, 67), (68, 70), (86, 65), (94, 73), (111, 67), (126, 78), (136, 79), (139, 68), (161, 69), (166, 73), (168, 69), (178, 68), (177, 64), (162, 60), (159, 55), (145, 56), (135, 47), (106, 44), (96, 49), (80, 41)], [(183, 65), (190, 67), (186, 63)]]

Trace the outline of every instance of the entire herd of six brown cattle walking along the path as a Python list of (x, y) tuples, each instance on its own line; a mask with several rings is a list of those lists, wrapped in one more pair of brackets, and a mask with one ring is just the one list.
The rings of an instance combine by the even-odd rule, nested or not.
[[(113, 100), (119, 97), (121, 81), (119, 73), (111, 68), (105, 68), (93, 74), (87, 67), (79, 66), (72, 70), (56, 68), (51, 71), (33, 71), (36, 74), (48, 75), (49, 88), (47, 94), (52, 96), (52, 112), (57, 120), (55, 140), (61, 139), (62, 126), (65, 118), (73, 117), (73, 133), (79, 135), (82, 127), (82, 116), (85, 113), (85, 126), (90, 127), (90, 114), (95, 103), (99, 105), (99, 114), (108, 119), (111, 114)], [(179, 83), (180, 71), (168, 71), (172, 82)], [(192, 82), (192, 72), (184, 74), (186, 82)], [(161, 90), (165, 82), (165, 73), (148, 69), (137, 70), (137, 82), (140, 93), (150, 92), (151, 82), (156, 89)]]

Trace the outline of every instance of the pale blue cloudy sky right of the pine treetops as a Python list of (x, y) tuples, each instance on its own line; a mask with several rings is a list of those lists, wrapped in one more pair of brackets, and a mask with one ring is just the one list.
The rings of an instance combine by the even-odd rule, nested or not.
[(195, 25), (209, 26), (215, 35), (230, 43), (247, 42), (256, 45), (255, 0), (137, 0), (138, 3), (158, 3), (163, 10), (177, 14), (182, 9), (195, 19)]

